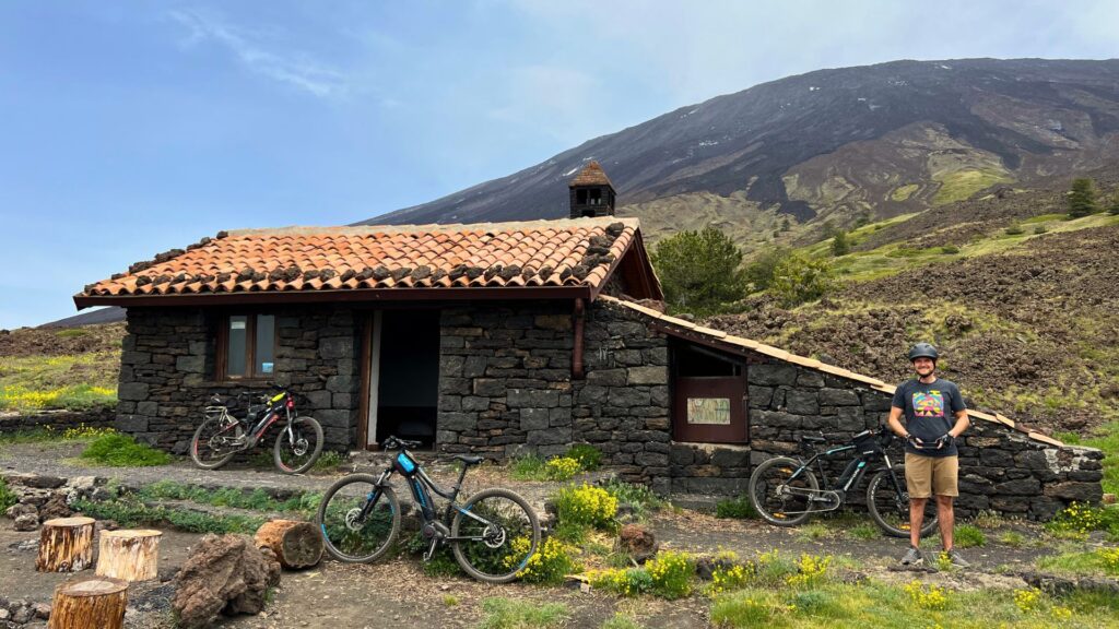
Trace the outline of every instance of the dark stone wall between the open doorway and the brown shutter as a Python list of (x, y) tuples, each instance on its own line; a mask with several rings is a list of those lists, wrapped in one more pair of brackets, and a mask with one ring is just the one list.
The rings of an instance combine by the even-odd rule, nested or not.
[(639, 316), (604, 303), (587, 309), (586, 377), (574, 382), (570, 301), (449, 308), (441, 327), (441, 450), (547, 457), (590, 442), (624, 478), (661, 478), (667, 491), (667, 340)]

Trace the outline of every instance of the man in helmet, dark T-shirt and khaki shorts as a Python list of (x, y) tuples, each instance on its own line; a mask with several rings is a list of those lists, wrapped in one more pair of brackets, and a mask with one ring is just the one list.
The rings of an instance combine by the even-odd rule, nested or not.
[[(937, 348), (919, 342), (910, 349), (909, 359), (916, 377), (902, 383), (894, 392), (890, 409), (890, 429), (905, 440), (905, 485), (910, 495), (910, 550), (903, 565), (924, 561), (920, 550), (924, 507), (937, 497), (940, 538), (944, 553), (953, 565), (966, 567), (968, 562), (952, 547), (952, 498), (959, 496), (959, 458), (956, 438), (970, 425), (967, 406), (955, 383), (938, 378)], [(905, 425), (900, 419), (905, 415)]]

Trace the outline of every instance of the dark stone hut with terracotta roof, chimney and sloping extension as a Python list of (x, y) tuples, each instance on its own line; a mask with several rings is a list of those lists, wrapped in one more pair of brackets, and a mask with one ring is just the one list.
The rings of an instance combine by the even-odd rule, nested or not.
[[(184, 452), (210, 394), (274, 382), (332, 449), (396, 434), (501, 460), (586, 442), (659, 492), (733, 495), (802, 433), (882, 423), (886, 383), (664, 314), (601, 168), (571, 190), (571, 218), (223, 232), (87, 285), (78, 308), (128, 309), (117, 429)], [(1100, 498), (1099, 451), (971, 416), (963, 515)]]

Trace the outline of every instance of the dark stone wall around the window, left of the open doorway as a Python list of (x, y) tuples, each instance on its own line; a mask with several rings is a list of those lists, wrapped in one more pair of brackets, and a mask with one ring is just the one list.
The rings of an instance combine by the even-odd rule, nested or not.
[[(248, 311), (248, 310), (246, 310)], [(355, 440), (358, 406), (358, 327), (354, 311), (332, 306), (260, 310), (276, 316), (272, 382), (307, 396), (300, 411), (321, 424), (326, 448)], [(220, 314), (197, 308), (130, 308), (121, 354), (116, 428), (184, 453), (214, 393), (264, 387), (214, 382)], [(275, 429), (262, 447), (271, 448)]]

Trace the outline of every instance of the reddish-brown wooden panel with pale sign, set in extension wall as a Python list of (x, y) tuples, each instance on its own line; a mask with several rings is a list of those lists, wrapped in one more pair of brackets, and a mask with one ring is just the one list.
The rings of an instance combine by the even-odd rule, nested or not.
[(744, 376), (677, 377), (673, 432), (676, 441), (745, 443)]

